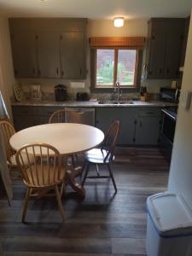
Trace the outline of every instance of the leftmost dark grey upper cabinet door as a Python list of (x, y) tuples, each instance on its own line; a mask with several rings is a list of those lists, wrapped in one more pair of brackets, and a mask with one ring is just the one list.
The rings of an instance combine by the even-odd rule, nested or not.
[(38, 76), (38, 67), (35, 33), (15, 32), (11, 39), (15, 77), (36, 78)]

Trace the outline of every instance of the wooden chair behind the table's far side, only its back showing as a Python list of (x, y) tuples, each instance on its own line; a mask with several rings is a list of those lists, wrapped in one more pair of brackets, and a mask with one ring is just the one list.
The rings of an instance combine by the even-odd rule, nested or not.
[(68, 109), (56, 110), (49, 117), (49, 124), (52, 123), (77, 123), (81, 124), (83, 112), (77, 112)]

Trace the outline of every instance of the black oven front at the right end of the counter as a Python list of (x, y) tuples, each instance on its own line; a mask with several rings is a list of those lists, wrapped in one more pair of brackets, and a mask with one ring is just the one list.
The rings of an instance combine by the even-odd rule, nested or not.
[(160, 150), (170, 163), (172, 158), (172, 144), (177, 122), (177, 109), (162, 108), (162, 125), (160, 131)]

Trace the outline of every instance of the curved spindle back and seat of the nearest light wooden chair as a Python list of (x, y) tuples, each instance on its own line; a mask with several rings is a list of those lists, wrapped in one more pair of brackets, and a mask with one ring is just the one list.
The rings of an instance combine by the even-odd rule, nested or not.
[(16, 162), (28, 187), (50, 187), (61, 183), (64, 178), (64, 173), (61, 173), (61, 155), (50, 145), (26, 145), (16, 153)]

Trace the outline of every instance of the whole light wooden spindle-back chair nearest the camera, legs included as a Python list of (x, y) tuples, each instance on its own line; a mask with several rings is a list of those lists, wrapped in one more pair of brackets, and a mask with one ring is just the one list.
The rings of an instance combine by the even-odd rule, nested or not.
[[(61, 204), (65, 169), (61, 168), (61, 154), (48, 144), (30, 144), (20, 148), (16, 153), (16, 162), (20, 166), (20, 172), (27, 186), (26, 199), (22, 214), (22, 222), (25, 222), (26, 209), (30, 196), (41, 196), (49, 189), (55, 189), (55, 196), (64, 221), (64, 211)], [(61, 184), (61, 192), (58, 185)], [(32, 192), (37, 192), (32, 194)]]

